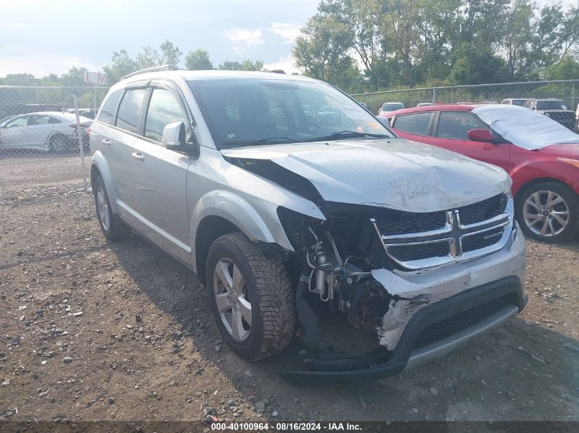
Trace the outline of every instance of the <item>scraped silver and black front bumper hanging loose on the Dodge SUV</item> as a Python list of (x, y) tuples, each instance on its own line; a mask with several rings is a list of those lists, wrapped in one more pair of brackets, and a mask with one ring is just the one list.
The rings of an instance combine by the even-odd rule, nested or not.
[[(356, 358), (314, 359), (309, 369), (281, 371), (280, 376), (293, 382), (360, 382), (393, 376), (445, 356), (524, 308), (525, 257), (525, 239), (515, 229), (505, 248), (472, 261), (420, 273), (373, 270), (373, 279), (397, 296), (378, 329), (380, 348)], [(473, 312), (485, 305), (495, 306), (491, 314), (468, 323)], [(445, 326), (458, 319), (469, 326), (445, 334)], [(433, 332), (442, 338), (430, 335), (429, 340)]]

